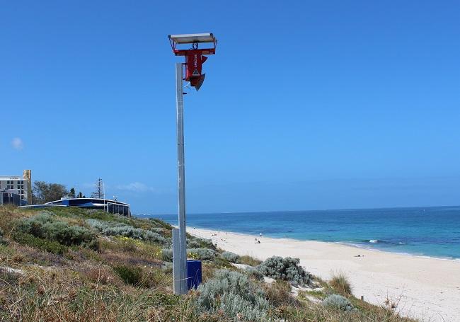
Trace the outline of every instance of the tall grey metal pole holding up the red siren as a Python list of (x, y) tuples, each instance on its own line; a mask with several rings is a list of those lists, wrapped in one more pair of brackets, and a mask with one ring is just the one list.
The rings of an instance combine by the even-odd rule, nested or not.
[[(184, 156), (184, 122), (183, 122), (183, 67), (176, 63), (176, 110), (177, 110), (177, 144), (178, 144), (178, 219), (179, 252), (173, 254), (174, 267), (179, 268), (174, 282), (180, 285), (180, 294), (187, 294), (187, 244), (185, 239), (185, 156)], [(174, 248), (173, 248), (174, 249)], [(176, 248), (177, 250), (177, 248)], [(178, 280), (177, 280), (178, 279)], [(175, 287), (176, 289), (176, 287)], [(179, 288), (178, 288), (179, 289)]]

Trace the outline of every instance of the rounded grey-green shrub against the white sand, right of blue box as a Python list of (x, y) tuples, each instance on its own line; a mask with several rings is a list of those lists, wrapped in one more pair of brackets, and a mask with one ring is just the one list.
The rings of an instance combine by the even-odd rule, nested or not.
[(311, 274), (301, 268), (299, 258), (273, 256), (260, 264), (258, 270), (265, 276), (275, 280), (285, 280), (294, 285), (311, 282)]

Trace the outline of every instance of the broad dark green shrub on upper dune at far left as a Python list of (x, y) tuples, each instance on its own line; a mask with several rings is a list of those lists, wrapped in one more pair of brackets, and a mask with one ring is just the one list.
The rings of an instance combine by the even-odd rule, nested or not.
[(82, 226), (69, 226), (47, 213), (40, 213), (29, 219), (23, 219), (18, 225), (19, 231), (38, 238), (57, 241), (66, 246), (91, 243), (96, 236)]

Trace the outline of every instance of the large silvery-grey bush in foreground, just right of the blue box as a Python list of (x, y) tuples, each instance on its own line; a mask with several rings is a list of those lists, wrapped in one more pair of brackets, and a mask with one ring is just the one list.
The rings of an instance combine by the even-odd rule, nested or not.
[(197, 309), (220, 312), (238, 321), (268, 321), (270, 304), (260, 287), (246, 275), (230, 270), (217, 270), (212, 280), (197, 289)]

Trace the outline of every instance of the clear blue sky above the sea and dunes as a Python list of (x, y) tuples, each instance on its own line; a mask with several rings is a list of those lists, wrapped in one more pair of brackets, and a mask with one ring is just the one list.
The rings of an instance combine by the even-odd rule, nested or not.
[(189, 212), (460, 204), (458, 1), (4, 1), (0, 174), (176, 212), (168, 34), (212, 32), (185, 97)]

